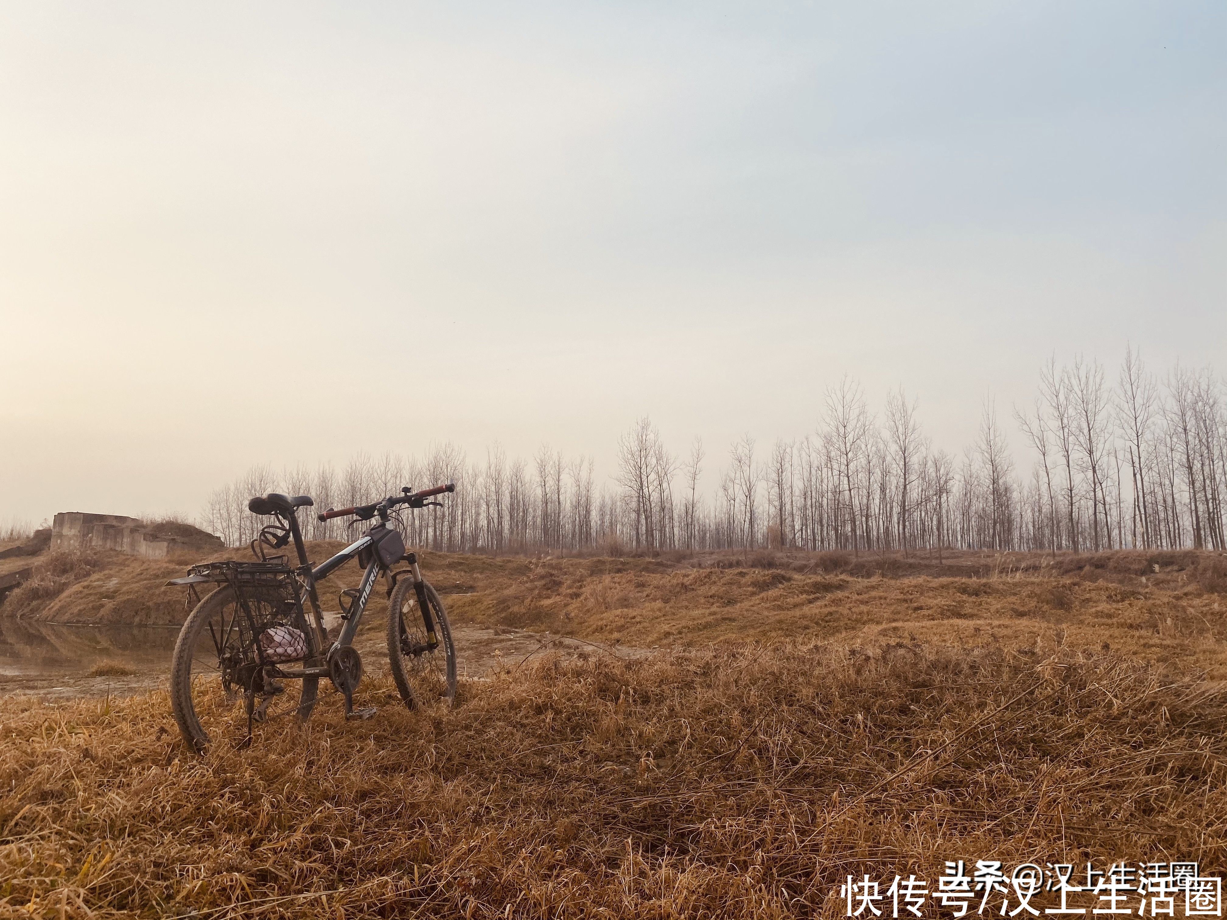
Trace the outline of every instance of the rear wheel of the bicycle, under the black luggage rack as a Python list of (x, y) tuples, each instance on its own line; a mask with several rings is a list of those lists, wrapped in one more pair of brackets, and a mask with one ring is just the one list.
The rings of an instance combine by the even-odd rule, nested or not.
[[(303, 633), (306, 622), (287, 622), (286, 599), (280, 591), (244, 589), (243, 597), (258, 624), (280, 622)], [(274, 676), (261, 666), (250, 624), (234, 589), (222, 585), (188, 615), (171, 665), (171, 705), (184, 741), (198, 753), (220, 740), (247, 738), (248, 711), (253, 724), (306, 720), (315, 705), (318, 677), (296, 681)], [(269, 643), (265, 643), (267, 648)], [(302, 664), (287, 664), (302, 667)]]

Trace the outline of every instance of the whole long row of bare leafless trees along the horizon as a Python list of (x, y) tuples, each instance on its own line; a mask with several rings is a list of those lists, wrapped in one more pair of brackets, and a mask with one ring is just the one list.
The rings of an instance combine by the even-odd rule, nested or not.
[[(902, 390), (875, 412), (845, 378), (827, 391), (810, 434), (769, 449), (739, 439), (709, 489), (703, 443), (676, 454), (642, 418), (618, 439), (604, 486), (591, 458), (548, 447), (528, 461), (493, 448), (472, 462), (439, 445), (421, 458), (358, 455), (342, 469), (254, 467), (212, 496), (202, 523), (239, 545), (260, 526), (247, 512), (255, 494), (307, 493), (328, 508), (454, 481), (443, 508), (405, 515), (411, 545), (490, 553), (1227, 548), (1227, 393), (1211, 372), (1177, 366), (1160, 380), (1130, 350), (1109, 381), (1094, 361), (1053, 359), (1033, 404), (1012, 415), (1036, 455), (1023, 476), (991, 400), (974, 442), (950, 454), (933, 445)], [(345, 539), (345, 527), (306, 521), (314, 540)]]

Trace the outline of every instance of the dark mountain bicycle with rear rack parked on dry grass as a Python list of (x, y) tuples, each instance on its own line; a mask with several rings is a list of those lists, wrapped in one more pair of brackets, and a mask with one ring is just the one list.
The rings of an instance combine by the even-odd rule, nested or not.
[[(346, 719), (369, 719), (374, 708), (353, 708), (353, 692), (362, 678), (362, 657), (353, 648), (362, 613), (380, 575), (388, 594), (388, 657), (393, 680), (410, 709), (431, 702), (450, 705), (456, 692), (455, 648), (447, 611), (438, 592), (422, 578), (416, 553), (407, 553), (395, 527), (398, 508), (439, 505), (428, 498), (455, 492), (455, 483), (389, 496), (368, 505), (329, 508), (320, 521), (352, 515), (353, 524), (378, 516), (367, 534), (336, 556), (313, 567), (307, 559), (298, 509), (313, 507), (310, 496), (270, 493), (248, 502), (248, 510), (275, 516), (252, 541), (259, 562), (207, 562), (188, 575), (167, 581), (187, 586), (195, 602), (174, 646), (171, 665), (171, 703), (179, 731), (189, 747), (205, 753), (213, 741), (245, 720), (252, 743), (253, 725), (275, 719), (310, 718), (319, 678), (328, 677), (345, 697)], [(269, 556), (293, 542), (298, 565), (286, 556)], [(350, 559), (363, 567), (358, 588), (340, 594), (341, 631), (331, 638), (324, 627), (317, 583)], [(407, 568), (394, 570), (399, 562)], [(204, 599), (198, 586), (216, 584)], [(309, 613), (309, 617), (308, 617)], [(297, 702), (282, 681), (302, 681)], [(242, 704), (242, 705), (240, 705)]]

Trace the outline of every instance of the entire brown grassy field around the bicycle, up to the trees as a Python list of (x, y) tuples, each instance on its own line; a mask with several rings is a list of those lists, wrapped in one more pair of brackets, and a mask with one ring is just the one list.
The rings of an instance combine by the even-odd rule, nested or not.
[[(0, 616), (182, 616), (183, 564), (45, 559)], [(1225, 864), (1222, 556), (423, 570), (458, 623), (594, 645), (204, 761), (164, 692), (0, 698), (0, 915), (838, 916), (945, 860)]]

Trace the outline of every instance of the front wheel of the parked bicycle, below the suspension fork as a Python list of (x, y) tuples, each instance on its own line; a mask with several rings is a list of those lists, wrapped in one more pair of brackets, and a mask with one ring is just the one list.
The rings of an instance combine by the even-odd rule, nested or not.
[(439, 702), (450, 705), (456, 696), (456, 653), (447, 611), (426, 581), (422, 595), (425, 615), (413, 581), (402, 578), (388, 601), (388, 661), (400, 698), (410, 709)]

